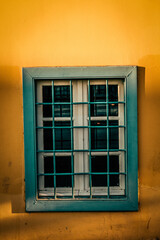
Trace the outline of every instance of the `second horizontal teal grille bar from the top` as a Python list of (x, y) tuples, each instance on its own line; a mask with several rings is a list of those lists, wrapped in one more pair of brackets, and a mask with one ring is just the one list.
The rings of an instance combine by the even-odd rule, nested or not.
[[(95, 120), (94, 120), (95, 121)], [(36, 127), (37, 129), (71, 129), (71, 128), (125, 128), (125, 125), (110, 125), (110, 126), (60, 126), (60, 127)]]

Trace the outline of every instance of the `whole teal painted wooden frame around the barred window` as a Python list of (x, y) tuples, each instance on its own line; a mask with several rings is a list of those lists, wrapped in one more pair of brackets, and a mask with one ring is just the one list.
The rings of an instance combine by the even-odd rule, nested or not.
[[(137, 66), (23, 68), (26, 211), (137, 211)], [(52, 200), (37, 196), (35, 83), (37, 80), (124, 79), (127, 180), (126, 196), (108, 199)]]

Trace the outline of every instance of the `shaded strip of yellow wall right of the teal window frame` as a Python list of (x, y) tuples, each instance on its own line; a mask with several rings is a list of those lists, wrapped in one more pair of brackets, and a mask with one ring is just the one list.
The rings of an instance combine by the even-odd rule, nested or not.
[(139, 88), (139, 148), (140, 184), (159, 187), (160, 148), (160, 55), (139, 59), (145, 66), (145, 96)]

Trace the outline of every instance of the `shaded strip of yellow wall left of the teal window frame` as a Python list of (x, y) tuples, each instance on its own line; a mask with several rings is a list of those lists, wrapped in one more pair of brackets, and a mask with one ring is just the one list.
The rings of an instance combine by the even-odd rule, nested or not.
[(24, 212), (23, 101), (19, 67), (0, 66), (0, 102), (0, 202), (12, 201), (13, 212)]

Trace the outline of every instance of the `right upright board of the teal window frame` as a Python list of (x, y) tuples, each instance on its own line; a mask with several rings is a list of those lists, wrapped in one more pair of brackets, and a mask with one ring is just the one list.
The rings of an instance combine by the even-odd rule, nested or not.
[(137, 68), (127, 77), (128, 198), (138, 209)]

